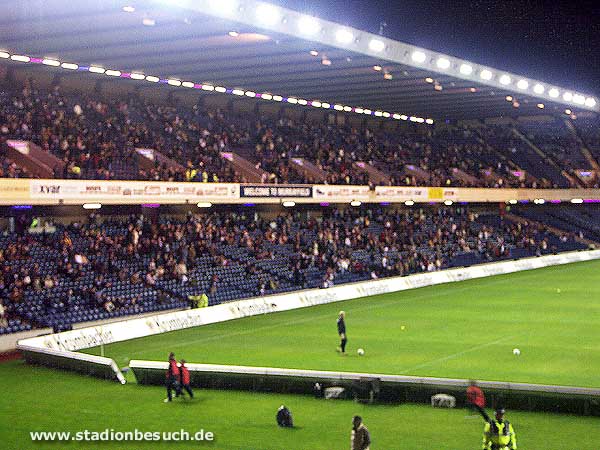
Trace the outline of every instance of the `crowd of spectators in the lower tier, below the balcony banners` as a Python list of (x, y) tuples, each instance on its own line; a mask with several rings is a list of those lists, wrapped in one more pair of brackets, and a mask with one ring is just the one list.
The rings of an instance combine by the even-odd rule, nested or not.
[[(92, 215), (53, 230), (24, 229), (1, 240), (0, 292), (9, 318), (32, 295), (42, 299), (33, 318), (25, 318), (33, 322), (84, 309), (132, 314), (144, 311), (145, 291), (158, 303), (176, 306), (172, 299), (186, 300), (192, 292), (207, 294), (214, 304), (437, 271), (464, 264), (465, 256), (472, 264), (541, 255), (573, 243), (540, 226), (463, 207), (188, 214), (156, 221)], [(45, 261), (48, 256), (53, 260)], [(241, 282), (251, 284), (236, 291)], [(223, 297), (227, 290), (236, 293)]]

